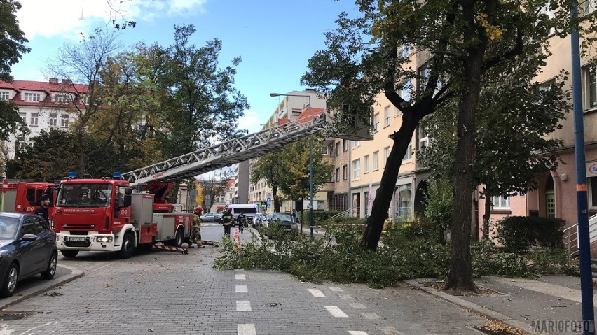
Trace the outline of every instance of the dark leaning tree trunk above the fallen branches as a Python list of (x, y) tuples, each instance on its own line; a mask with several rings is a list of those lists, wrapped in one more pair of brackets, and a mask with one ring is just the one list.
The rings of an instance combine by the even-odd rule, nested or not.
[(371, 216), (367, 218), (366, 228), (363, 233), (363, 242), (371, 250), (377, 249), (381, 231), (383, 230), (383, 222), (385, 222), (387, 212), (390, 209), (390, 202), (394, 194), (402, 158), (406, 155), (406, 150), (409, 148), (418, 124), (419, 118), (416, 115), (404, 113), (400, 129), (394, 132), (394, 145), (392, 145), (390, 156), (387, 157), (379, 189), (373, 200), (373, 206), (371, 206)]

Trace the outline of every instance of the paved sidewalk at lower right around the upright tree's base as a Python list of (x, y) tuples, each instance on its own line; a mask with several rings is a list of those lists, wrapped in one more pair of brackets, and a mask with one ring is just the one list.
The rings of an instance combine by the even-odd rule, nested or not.
[[(578, 277), (544, 276), (539, 280), (483, 277), (475, 280), (476, 285), (497, 292), (470, 297), (457, 297), (435, 290), (430, 285), (437, 281), (432, 279), (406, 280), (406, 283), (462, 308), (481, 313), (489, 319), (501, 320), (529, 334), (579, 334), (570, 326), (575, 321), (582, 320)], [(597, 296), (593, 294), (593, 306), (595, 302)], [(551, 322), (551, 326), (556, 327), (555, 330), (559, 332), (554, 332), (554, 327), (533, 329), (533, 324), (545, 326), (554, 320), (562, 321)], [(568, 326), (570, 327), (562, 328)]]

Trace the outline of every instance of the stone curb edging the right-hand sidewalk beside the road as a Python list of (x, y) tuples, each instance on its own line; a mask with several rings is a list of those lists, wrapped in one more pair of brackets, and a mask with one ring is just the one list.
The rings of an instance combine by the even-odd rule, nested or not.
[[(404, 280), (404, 283), (411, 285), (412, 287), (416, 287), (419, 290), (423, 290), (429, 294), (432, 294), (435, 297), (444, 299), (452, 304), (455, 304), (456, 306), (459, 306), (462, 308), (467, 308), (474, 313), (479, 313), (479, 314), (483, 315), (485, 318), (488, 318), (489, 320), (502, 321), (506, 325), (509, 325), (510, 327), (521, 329), (524, 332), (527, 332), (529, 334), (537, 334), (537, 332), (535, 332), (533, 330), (533, 328), (530, 327), (530, 325), (528, 325), (524, 322), (521, 322), (514, 318), (510, 318), (507, 315), (504, 315), (504, 314), (496, 312), (496, 311), (492, 311), (489, 308), (474, 304), (470, 301), (466, 301), (465, 299), (460, 299), (451, 294), (447, 294), (446, 292), (441, 292), (438, 290), (434, 290), (431, 287), (426, 287), (425, 285), (418, 283), (416, 280), (412, 280), (412, 279)], [(552, 333), (546, 333), (546, 332), (542, 332), (541, 334), (554, 335)]]

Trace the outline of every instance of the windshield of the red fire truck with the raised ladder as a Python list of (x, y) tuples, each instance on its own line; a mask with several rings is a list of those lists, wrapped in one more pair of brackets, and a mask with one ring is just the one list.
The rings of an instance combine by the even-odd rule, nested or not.
[(56, 203), (60, 207), (107, 207), (110, 196), (110, 184), (62, 184)]

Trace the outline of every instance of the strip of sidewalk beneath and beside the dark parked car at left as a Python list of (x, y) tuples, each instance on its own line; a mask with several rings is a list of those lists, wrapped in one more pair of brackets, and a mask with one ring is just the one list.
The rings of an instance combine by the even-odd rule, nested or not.
[(18, 304), (30, 297), (42, 294), (43, 292), (53, 290), (81, 276), (83, 276), (82, 270), (58, 264), (54, 278), (50, 280), (41, 279), (40, 276), (33, 276), (32, 278), (20, 281), (17, 284), (17, 289), (13, 297), (0, 299), (0, 310)]

